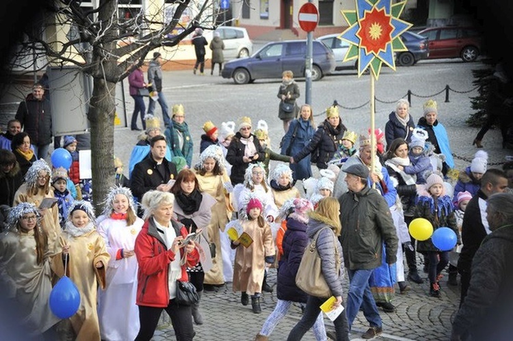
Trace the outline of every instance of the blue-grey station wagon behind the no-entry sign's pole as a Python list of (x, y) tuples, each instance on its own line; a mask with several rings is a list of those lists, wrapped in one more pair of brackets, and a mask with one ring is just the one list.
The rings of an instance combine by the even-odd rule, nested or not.
[[(237, 84), (255, 79), (281, 78), (282, 72), (291, 70), (295, 78), (305, 74), (306, 40), (269, 42), (249, 58), (234, 59), (224, 64), (222, 77), (233, 78)], [(313, 41), (312, 80), (318, 81), (333, 72), (333, 51), (318, 41)]]

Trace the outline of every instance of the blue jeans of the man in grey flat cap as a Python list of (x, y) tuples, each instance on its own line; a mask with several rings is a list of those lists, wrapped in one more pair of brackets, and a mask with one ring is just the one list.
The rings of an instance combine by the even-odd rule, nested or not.
[(345, 312), (347, 314), (347, 322), (349, 327), (353, 324), (356, 314), (363, 309), (363, 315), (369, 321), (371, 327), (381, 327), (381, 316), (376, 307), (376, 301), (372, 297), (371, 288), (369, 287), (369, 278), (371, 270), (347, 270), (349, 274), (350, 284), (349, 292), (347, 292), (347, 302)]

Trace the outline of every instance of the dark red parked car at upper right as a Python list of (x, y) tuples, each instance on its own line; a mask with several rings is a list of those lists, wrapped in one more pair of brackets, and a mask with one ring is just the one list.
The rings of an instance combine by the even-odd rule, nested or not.
[(428, 59), (461, 58), (473, 62), (482, 53), (482, 34), (473, 27), (430, 27), (419, 31), (428, 38)]

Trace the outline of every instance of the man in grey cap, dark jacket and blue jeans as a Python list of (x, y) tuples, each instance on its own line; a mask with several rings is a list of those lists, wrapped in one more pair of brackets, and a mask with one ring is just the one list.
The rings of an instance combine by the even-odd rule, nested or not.
[(397, 260), (397, 234), (388, 204), (380, 192), (367, 185), (369, 169), (362, 163), (343, 169), (348, 191), (339, 197), (340, 222), (345, 267), (350, 278), (345, 311), (351, 325), (360, 307), (370, 328), (363, 334), (369, 339), (382, 333), (382, 321), (369, 287), (369, 277), (382, 263), (382, 245), (386, 263)]

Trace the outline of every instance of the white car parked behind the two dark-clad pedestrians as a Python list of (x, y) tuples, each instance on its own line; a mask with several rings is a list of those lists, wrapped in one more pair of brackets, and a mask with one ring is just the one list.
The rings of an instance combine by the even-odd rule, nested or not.
[[(220, 38), (224, 42), (224, 59), (249, 57), (253, 53), (253, 42), (244, 27), (219, 26), (215, 32), (219, 32)], [(210, 43), (213, 31), (205, 33), (205, 38)]]

